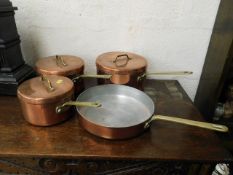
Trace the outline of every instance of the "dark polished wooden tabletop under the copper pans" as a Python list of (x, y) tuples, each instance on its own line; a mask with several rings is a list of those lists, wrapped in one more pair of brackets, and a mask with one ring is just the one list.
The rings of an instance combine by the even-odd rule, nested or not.
[[(157, 114), (203, 120), (177, 81), (147, 80), (145, 91), (155, 100)], [(206, 129), (154, 121), (151, 128), (138, 137), (111, 141), (86, 132), (80, 127), (78, 116), (53, 127), (32, 126), (23, 119), (16, 97), (1, 96), (0, 157), (21, 156), (194, 162), (233, 160), (215, 133)]]

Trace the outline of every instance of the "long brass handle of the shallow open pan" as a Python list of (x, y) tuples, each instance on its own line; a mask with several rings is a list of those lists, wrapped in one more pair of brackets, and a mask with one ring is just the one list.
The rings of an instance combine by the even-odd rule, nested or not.
[(163, 115), (152, 116), (151, 119), (145, 124), (145, 128), (148, 128), (150, 126), (150, 123), (153, 120), (165, 120), (165, 121), (196, 126), (196, 127), (210, 129), (210, 130), (219, 131), (219, 132), (228, 132), (229, 130), (228, 127), (225, 125), (219, 125), (219, 124), (208, 123), (208, 122), (199, 122), (199, 121), (194, 121), (194, 120), (189, 120), (189, 119), (169, 117), (169, 116), (163, 116)]

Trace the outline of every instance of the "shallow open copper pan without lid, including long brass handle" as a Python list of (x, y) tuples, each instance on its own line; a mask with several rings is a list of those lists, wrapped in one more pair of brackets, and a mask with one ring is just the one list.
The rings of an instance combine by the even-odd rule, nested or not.
[(76, 107), (80, 123), (90, 133), (107, 139), (137, 136), (154, 120), (166, 120), (227, 132), (224, 125), (154, 114), (154, 102), (144, 92), (124, 85), (99, 85), (79, 95), (78, 101), (98, 101), (101, 107)]

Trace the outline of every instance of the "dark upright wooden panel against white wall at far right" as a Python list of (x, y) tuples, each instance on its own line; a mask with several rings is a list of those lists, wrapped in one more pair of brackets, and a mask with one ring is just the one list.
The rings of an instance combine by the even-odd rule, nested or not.
[(232, 61), (233, 1), (221, 0), (194, 104), (212, 120)]

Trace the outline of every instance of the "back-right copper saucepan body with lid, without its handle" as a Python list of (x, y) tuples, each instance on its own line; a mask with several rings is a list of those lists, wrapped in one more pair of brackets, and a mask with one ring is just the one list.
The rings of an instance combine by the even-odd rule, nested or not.
[(122, 84), (142, 89), (143, 81), (138, 80), (146, 72), (144, 57), (130, 52), (107, 52), (96, 59), (97, 74), (112, 75), (110, 79), (99, 79), (99, 84)]

